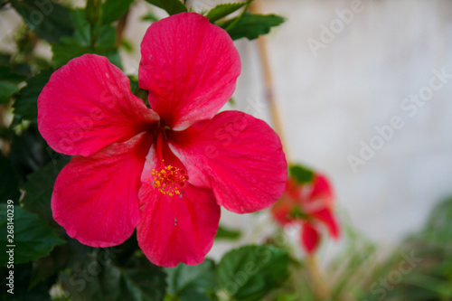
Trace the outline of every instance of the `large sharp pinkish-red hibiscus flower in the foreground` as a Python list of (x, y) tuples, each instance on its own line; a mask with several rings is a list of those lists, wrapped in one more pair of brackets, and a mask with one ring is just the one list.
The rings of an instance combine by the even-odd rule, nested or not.
[(152, 24), (141, 44), (139, 86), (104, 57), (86, 54), (52, 74), (38, 126), (74, 155), (53, 188), (52, 212), (74, 239), (115, 246), (137, 228), (156, 265), (194, 265), (212, 248), (220, 205), (267, 208), (284, 191), (287, 163), (276, 133), (230, 99), (240, 56), (228, 33), (200, 14)]

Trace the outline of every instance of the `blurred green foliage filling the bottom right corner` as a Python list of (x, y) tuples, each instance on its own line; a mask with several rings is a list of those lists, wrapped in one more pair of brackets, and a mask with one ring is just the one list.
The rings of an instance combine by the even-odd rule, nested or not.
[[(345, 229), (346, 248), (326, 270), (326, 300), (442, 301), (452, 298), (452, 199), (438, 204), (426, 227), (402, 240), (386, 259), (375, 245)], [(298, 284), (304, 291), (309, 283)], [(294, 289), (294, 288), (290, 288)], [(319, 300), (313, 296), (303, 300)]]

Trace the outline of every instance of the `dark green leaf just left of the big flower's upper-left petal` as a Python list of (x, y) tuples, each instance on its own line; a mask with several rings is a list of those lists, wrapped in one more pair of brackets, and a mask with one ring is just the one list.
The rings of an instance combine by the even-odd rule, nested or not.
[(14, 115), (19, 120), (27, 119), (35, 121), (38, 117), (38, 96), (49, 81), (52, 70), (41, 71), (27, 81), (26, 87), (20, 90), (14, 101)]

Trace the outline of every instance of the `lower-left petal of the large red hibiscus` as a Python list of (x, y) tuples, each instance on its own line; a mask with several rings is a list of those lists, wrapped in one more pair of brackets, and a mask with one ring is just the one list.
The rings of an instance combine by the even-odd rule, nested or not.
[(52, 213), (71, 238), (116, 246), (140, 220), (138, 190), (151, 137), (139, 134), (90, 157), (74, 156), (53, 187)]

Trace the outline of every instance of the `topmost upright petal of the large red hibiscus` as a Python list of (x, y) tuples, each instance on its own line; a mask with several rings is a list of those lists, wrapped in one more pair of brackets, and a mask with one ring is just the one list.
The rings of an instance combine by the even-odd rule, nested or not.
[(201, 14), (175, 14), (152, 24), (141, 43), (139, 85), (165, 126), (184, 129), (231, 98), (240, 56), (228, 33)]

